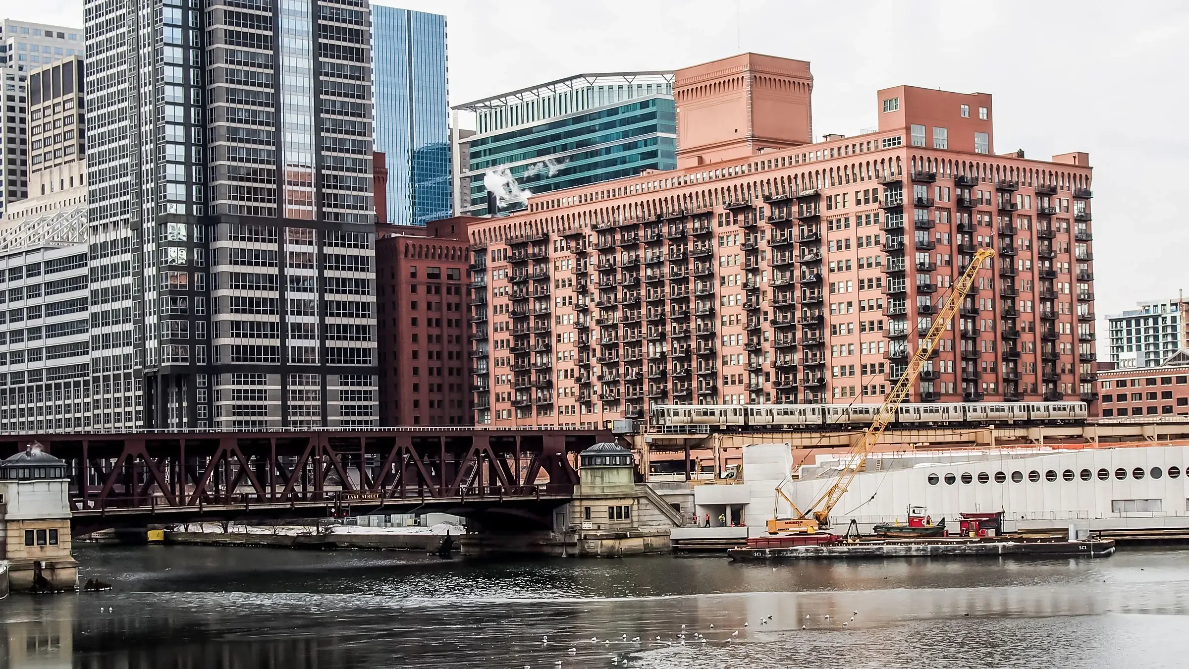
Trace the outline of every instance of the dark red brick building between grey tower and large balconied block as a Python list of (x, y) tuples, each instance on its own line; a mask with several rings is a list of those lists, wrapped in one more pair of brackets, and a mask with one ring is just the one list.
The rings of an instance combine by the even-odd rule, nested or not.
[(380, 425), (468, 425), (467, 217), (379, 226)]

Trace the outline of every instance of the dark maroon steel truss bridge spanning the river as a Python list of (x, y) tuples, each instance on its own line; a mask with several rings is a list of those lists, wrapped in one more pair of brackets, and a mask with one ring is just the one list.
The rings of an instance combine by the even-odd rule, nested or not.
[(0, 457), (42, 448), (69, 465), (76, 533), (216, 519), (411, 509), (491, 526), (546, 525), (599, 430), (0, 434)]

